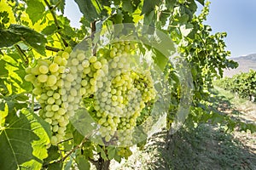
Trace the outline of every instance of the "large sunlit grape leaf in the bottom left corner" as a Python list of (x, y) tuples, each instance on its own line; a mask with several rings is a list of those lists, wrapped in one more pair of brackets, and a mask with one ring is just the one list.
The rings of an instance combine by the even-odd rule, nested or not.
[(49, 126), (26, 109), (18, 113), (9, 114), (0, 129), (0, 169), (40, 169), (47, 157)]

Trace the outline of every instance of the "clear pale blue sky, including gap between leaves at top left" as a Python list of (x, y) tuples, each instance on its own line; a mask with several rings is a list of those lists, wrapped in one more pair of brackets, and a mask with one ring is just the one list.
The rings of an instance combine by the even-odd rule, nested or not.
[[(77, 4), (73, 0), (66, 3), (65, 15), (72, 26), (79, 27), (82, 14)], [(212, 33), (227, 32), (224, 41), (231, 57), (256, 54), (256, 0), (211, 0), (205, 24), (212, 26)]]

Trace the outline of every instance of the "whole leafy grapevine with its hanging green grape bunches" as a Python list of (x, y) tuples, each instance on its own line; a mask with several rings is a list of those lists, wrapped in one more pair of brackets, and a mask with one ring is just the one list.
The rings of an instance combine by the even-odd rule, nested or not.
[[(211, 27), (203, 23), (207, 20), (209, 3), (204, 0), (75, 2), (84, 14), (79, 29), (70, 26), (70, 20), (63, 15), (65, 0), (0, 2), (0, 169), (90, 169), (92, 165), (110, 169), (110, 161), (127, 159), (132, 154), (132, 145), (146, 142), (147, 120), (150, 125), (165, 116), (166, 127), (173, 132), (179, 105), (186, 109), (190, 106), (189, 99), (182, 96), (189, 93), (183, 90), (190, 87), (194, 87), (194, 92), (186, 125), (194, 127), (198, 122), (218, 120), (218, 114), (206, 109), (212, 81), (222, 77), (225, 68), (235, 68), (237, 64), (226, 59), (230, 55), (225, 50), (226, 33), (212, 35)], [(198, 16), (197, 5), (204, 6)], [(142, 29), (132, 34), (139, 26)], [(99, 35), (105, 28), (104, 36), (113, 28), (109, 38), (113, 42), (102, 48)], [(144, 32), (148, 37), (140, 39), (140, 33)], [(153, 35), (163, 42), (164, 37), (171, 38), (178, 48), (180, 56), (175, 59), (180, 59), (179, 64), (169, 62), (165, 50), (154, 46), (157, 43), (150, 45), (148, 40)], [(148, 44), (143, 44), (143, 40)], [(80, 49), (78, 44), (82, 44), (83, 50), (76, 50)], [(162, 44), (175, 51), (173, 44)], [(143, 56), (145, 60), (149, 56), (147, 59), (154, 66), (144, 62), (132, 70), (128, 57), (121, 56)], [(116, 65), (121, 72), (114, 69)], [(110, 77), (106, 68), (111, 66)], [(183, 83), (187, 73), (192, 75), (191, 84)], [(164, 75), (167, 85), (157, 84), (160, 81), (154, 81), (154, 74)], [(102, 88), (101, 81), (103, 87), (114, 90), (110, 93)], [(97, 90), (93, 88), (94, 82), (98, 83)], [(164, 92), (169, 93), (167, 97)], [(60, 98), (65, 94), (67, 100)], [(159, 112), (166, 110), (166, 115), (154, 115), (157, 99), (166, 104), (157, 108)], [(119, 114), (106, 115), (101, 104), (107, 111), (117, 105), (121, 109), (110, 112)], [(81, 107), (83, 110), (78, 110)], [(84, 119), (84, 113), (94, 123), (88, 117)], [(75, 120), (70, 118), (73, 116), (77, 116)], [(228, 118), (224, 121), (230, 122)], [(98, 130), (94, 124), (101, 127), (97, 131), (100, 137), (94, 133)], [(82, 130), (76, 125), (81, 125)], [(84, 129), (90, 132), (84, 133)]]

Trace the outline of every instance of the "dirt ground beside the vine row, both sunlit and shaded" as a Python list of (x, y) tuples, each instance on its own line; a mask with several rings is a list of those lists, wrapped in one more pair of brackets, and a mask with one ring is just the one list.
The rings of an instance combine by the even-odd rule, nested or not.
[[(219, 90), (219, 91), (218, 91)], [(256, 104), (238, 99), (217, 88), (214, 109), (242, 122), (256, 123)], [(256, 133), (226, 132), (225, 125), (202, 123), (183, 128), (171, 137), (166, 130), (148, 139), (144, 150), (133, 148), (133, 155), (111, 169), (256, 169)]]

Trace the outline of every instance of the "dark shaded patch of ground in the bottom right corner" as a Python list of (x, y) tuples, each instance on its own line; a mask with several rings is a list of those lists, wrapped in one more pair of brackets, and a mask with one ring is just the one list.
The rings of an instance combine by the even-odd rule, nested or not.
[(256, 169), (256, 154), (221, 127), (201, 124), (181, 129), (166, 142), (155, 134), (144, 151), (152, 156), (147, 169)]

